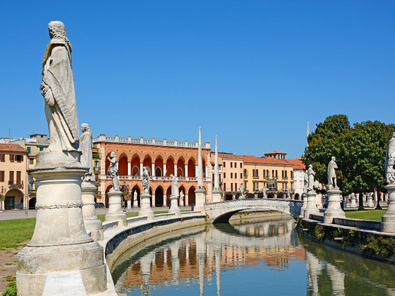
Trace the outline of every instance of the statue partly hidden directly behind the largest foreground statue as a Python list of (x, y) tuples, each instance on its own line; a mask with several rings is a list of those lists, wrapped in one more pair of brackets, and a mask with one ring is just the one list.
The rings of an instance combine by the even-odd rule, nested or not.
[(81, 124), (82, 135), (79, 138), (79, 148), (82, 152), (80, 161), (82, 166), (88, 167), (89, 171), (82, 177), (83, 182), (93, 183), (93, 161), (92, 161), (92, 132), (87, 123)]

